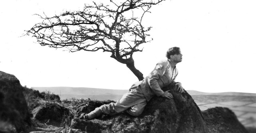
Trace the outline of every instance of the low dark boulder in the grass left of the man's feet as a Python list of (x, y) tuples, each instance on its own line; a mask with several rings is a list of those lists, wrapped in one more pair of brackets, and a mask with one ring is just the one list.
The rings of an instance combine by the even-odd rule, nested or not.
[(33, 111), (33, 119), (37, 119), (42, 123), (49, 125), (60, 126), (68, 117), (73, 117), (73, 114), (66, 107), (56, 103), (49, 103), (36, 107)]

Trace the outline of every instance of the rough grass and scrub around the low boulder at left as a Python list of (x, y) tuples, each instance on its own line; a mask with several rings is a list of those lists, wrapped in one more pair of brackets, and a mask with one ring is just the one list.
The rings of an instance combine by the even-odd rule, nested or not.
[[(54, 93), (51, 93), (50, 91), (43, 91), (39, 92), (34, 89), (26, 88), (24, 87), (23, 90), (24, 97), (26, 99), (28, 108), (30, 113), (32, 113), (33, 109), (36, 107), (48, 105), (48, 104), (58, 104), (62, 107), (68, 108), (70, 111), (68, 114), (64, 115), (62, 118), (62, 122), (60, 123), (60, 127), (62, 129), (65, 129), (66, 132), (70, 129), (71, 126), (71, 120), (74, 118), (74, 114), (76, 114), (76, 109), (78, 105), (81, 105), (82, 103), (87, 103), (90, 99), (64, 99), (60, 100), (59, 95), (55, 95)], [(4, 124), (4, 123), (0, 123)], [(48, 123), (40, 123), (39, 121), (32, 121), (32, 125), (34, 125), (36, 128), (43, 128), (43, 130), (49, 130), (52, 129), (52, 125), (48, 125)], [(38, 126), (38, 127), (37, 127)], [(6, 126), (8, 127), (8, 126)], [(38, 129), (35, 129), (38, 130)]]

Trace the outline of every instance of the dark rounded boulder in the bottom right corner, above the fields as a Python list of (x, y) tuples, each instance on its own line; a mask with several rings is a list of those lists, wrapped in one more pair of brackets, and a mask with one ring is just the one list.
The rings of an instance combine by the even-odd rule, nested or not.
[(226, 107), (214, 107), (202, 111), (211, 133), (248, 133), (234, 112)]

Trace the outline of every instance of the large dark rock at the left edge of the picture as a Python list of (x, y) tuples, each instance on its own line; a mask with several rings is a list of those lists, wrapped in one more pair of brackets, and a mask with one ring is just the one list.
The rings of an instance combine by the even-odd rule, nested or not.
[(0, 71), (0, 132), (26, 132), (31, 124), (20, 81)]

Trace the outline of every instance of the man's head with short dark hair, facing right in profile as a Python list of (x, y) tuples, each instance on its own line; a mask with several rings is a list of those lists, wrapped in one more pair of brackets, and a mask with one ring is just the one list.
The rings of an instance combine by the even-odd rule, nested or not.
[(181, 62), (182, 61), (182, 54), (180, 52), (180, 48), (178, 48), (178, 47), (169, 48), (166, 52), (166, 57), (169, 60), (174, 60), (177, 63)]

